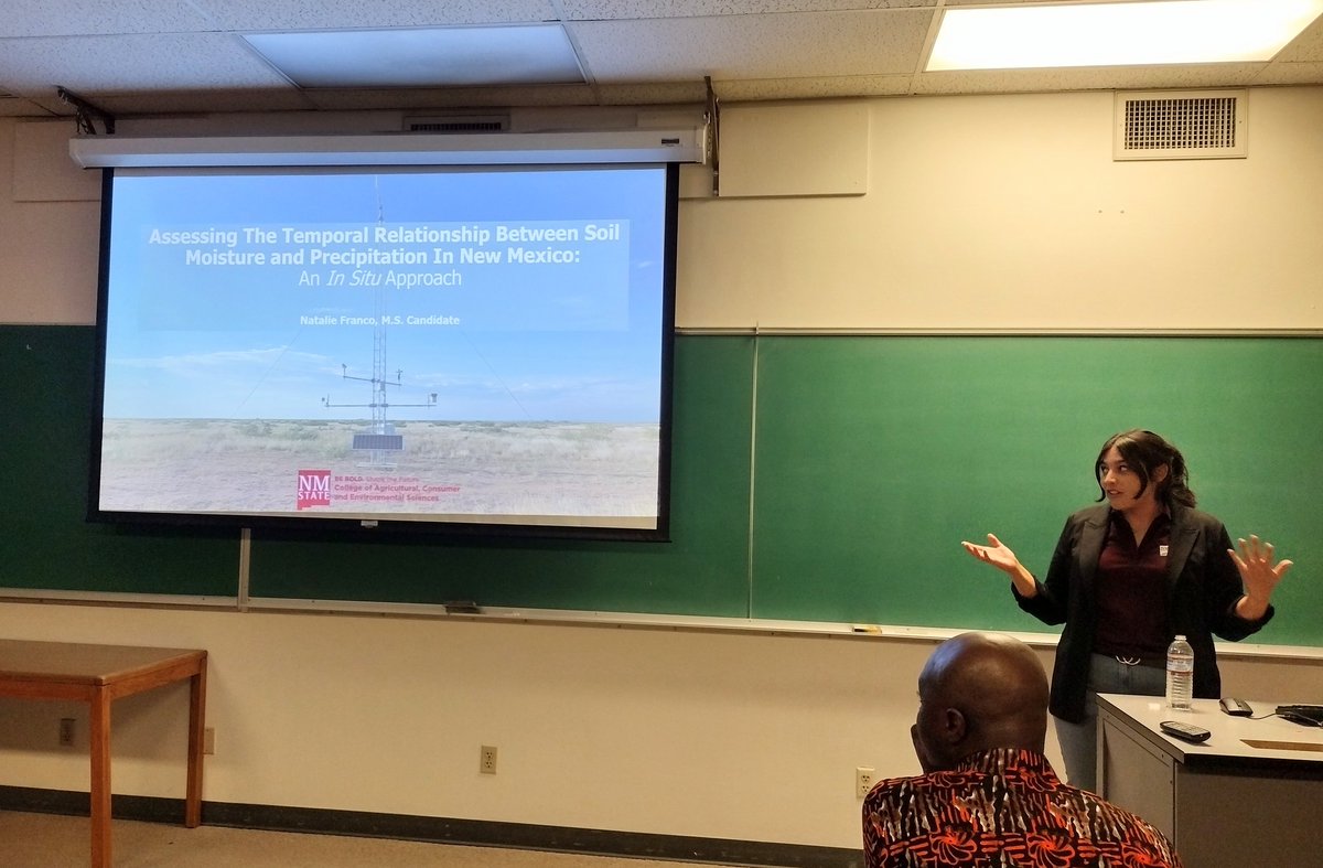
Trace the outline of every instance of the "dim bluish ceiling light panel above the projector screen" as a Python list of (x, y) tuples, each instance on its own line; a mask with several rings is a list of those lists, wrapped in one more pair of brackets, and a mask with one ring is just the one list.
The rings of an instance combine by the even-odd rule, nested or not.
[(558, 24), (249, 33), (300, 87), (456, 87), (581, 83)]

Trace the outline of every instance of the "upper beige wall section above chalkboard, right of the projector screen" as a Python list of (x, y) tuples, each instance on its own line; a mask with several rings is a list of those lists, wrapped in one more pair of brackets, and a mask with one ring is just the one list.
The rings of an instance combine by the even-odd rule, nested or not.
[(687, 202), (681, 327), (1323, 327), (1323, 89), (1252, 91), (1245, 160), (1115, 163), (1110, 93), (868, 106), (865, 196)]

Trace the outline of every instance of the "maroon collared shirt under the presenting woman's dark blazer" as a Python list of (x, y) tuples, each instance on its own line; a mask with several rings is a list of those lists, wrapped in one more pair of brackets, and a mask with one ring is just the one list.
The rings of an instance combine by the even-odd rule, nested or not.
[(1135, 540), (1130, 523), (1113, 512), (1107, 541), (1094, 578), (1098, 627), (1093, 650), (1122, 658), (1162, 660), (1171, 640), (1167, 627), (1167, 550), (1171, 517), (1154, 519), (1144, 539)]

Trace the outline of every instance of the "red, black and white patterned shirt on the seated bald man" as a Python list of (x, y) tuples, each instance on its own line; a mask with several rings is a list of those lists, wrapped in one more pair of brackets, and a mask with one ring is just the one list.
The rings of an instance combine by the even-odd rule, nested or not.
[(1180, 868), (1156, 828), (1061, 783), (1035, 750), (998, 748), (950, 771), (882, 781), (864, 799), (868, 868)]

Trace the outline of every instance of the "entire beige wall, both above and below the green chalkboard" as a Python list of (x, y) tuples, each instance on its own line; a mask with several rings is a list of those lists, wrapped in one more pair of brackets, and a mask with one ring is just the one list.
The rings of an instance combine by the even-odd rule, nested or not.
[[(1323, 89), (1253, 91), (1248, 160), (1151, 164), (1111, 161), (1110, 94), (863, 105), (863, 196), (759, 196), (754, 177), (710, 198), (688, 172), (683, 328), (1323, 327)], [(786, 159), (767, 191), (835, 168), (796, 150), (800, 124), (860, 135), (853, 110), (818, 111), (726, 108), (737, 140), (771, 123), (762, 156)], [(49, 131), (21, 126), (0, 119), (0, 323), (91, 323), (97, 205), (69, 192), (61, 136), (34, 155)], [(833, 847), (859, 844), (856, 766), (918, 770), (931, 648), (29, 602), (0, 602), (0, 635), (209, 648), (208, 801)], [(1323, 693), (1318, 659), (1245, 651), (1224, 652), (1228, 693)], [(116, 791), (181, 795), (184, 711), (177, 689), (116, 705)], [(0, 785), (86, 787), (85, 753), (56, 746), (62, 716), (86, 746), (82, 709), (0, 700)], [(483, 744), (496, 777), (478, 774)]]

